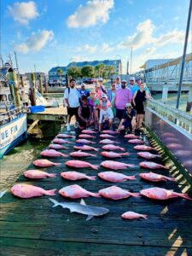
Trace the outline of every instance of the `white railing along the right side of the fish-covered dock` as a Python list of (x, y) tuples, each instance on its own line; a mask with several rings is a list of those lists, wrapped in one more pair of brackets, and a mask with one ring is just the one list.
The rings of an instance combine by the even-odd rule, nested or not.
[(188, 113), (155, 100), (148, 100), (147, 108), (154, 110), (154, 112), (187, 131), (190, 135), (192, 134), (192, 116)]

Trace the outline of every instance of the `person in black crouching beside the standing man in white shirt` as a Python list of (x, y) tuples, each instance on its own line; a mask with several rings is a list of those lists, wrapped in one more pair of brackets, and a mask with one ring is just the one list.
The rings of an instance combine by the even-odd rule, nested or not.
[(78, 109), (78, 115), (79, 115), (79, 129), (84, 130), (90, 125), (93, 125), (94, 119), (93, 119), (93, 113), (92, 110), (88, 104), (88, 100), (86, 96), (82, 96), (82, 106)]

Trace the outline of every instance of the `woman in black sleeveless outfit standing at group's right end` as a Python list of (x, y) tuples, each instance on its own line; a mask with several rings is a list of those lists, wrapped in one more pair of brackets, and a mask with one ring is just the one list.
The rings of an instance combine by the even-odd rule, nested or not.
[(144, 102), (150, 98), (148, 91), (144, 90), (144, 84), (140, 84), (140, 90), (137, 90), (133, 96), (133, 106), (137, 111), (137, 129), (140, 129), (145, 114)]

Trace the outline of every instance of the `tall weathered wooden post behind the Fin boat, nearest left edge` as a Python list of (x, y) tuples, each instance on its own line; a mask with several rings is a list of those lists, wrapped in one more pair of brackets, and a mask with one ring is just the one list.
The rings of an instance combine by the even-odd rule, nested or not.
[(10, 87), (10, 91), (13, 93), (13, 96), (14, 96), (15, 108), (20, 108), (21, 101), (20, 101), (19, 86), (17, 81), (17, 74), (15, 73), (12, 67), (9, 68), (9, 87)]

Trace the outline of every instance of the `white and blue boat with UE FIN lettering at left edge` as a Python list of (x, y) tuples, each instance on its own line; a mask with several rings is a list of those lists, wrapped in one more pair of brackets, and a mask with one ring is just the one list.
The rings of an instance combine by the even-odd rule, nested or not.
[(26, 113), (14, 108), (0, 114), (0, 158), (26, 138)]

